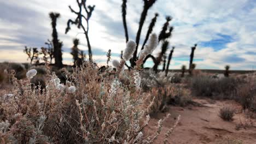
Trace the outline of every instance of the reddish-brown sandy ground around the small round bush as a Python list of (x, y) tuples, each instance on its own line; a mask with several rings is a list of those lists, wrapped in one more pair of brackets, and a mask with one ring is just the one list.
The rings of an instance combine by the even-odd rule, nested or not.
[[(158, 125), (158, 119), (171, 114), (162, 127), (162, 132), (154, 143), (163, 143), (165, 133), (175, 122), (175, 118), (181, 115), (181, 121), (173, 133), (167, 137), (168, 143), (256, 143), (256, 119), (246, 118), (241, 107), (234, 101), (213, 101), (206, 99), (195, 99), (205, 105), (204, 107), (170, 106), (165, 113), (158, 113), (152, 116), (149, 122), (150, 127), (144, 131), (145, 135), (152, 134)], [(236, 109), (234, 121), (225, 122), (218, 116), (219, 109), (229, 105)], [(240, 127), (238, 125), (248, 126)], [(233, 141), (233, 142), (231, 142)], [(235, 142), (234, 142), (235, 141)]]

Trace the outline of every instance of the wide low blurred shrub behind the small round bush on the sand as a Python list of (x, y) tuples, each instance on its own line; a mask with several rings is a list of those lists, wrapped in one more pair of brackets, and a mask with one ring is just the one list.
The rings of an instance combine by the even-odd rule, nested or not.
[(190, 88), (199, 97), (230, 98), (237, 83), (231, 77), (213, 79), (210, 76), (195, 76), (190, 79)]

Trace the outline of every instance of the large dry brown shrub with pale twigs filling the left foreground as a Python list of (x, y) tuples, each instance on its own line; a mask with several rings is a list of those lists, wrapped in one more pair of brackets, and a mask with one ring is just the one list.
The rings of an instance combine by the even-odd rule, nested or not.
[(66, 71), (66, 85), (47, 73), (41, 93), (31, 86), (36, 78), (18, 81), (11, 73), (11, 97), (0, 97), (0, 142), (152, 143), (164, 120), (153, 135), (143, 135), (150, 117), (139, 109), (147, 95), (140, 93), (138, 77), (124, 86), (118, 74), (103, 77), (97, 71), (90, 63)]

